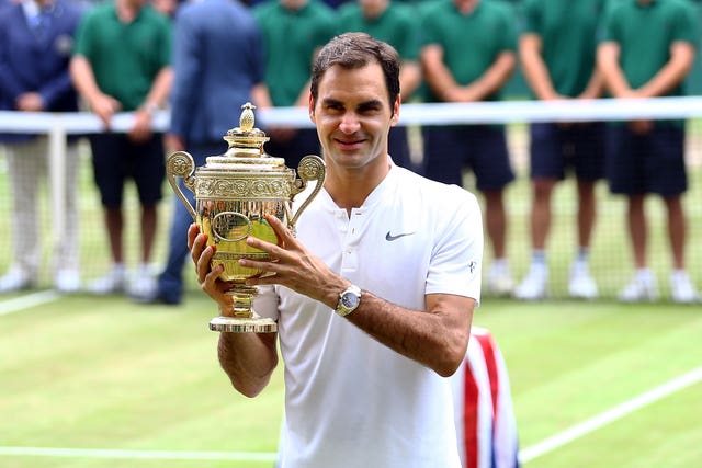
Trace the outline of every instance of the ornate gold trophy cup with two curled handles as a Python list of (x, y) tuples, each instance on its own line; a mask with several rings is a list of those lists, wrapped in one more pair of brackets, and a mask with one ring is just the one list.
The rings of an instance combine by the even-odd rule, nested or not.
[[(220, 278), (233, 285), (228, 294), (234, 297), (234, 316), (213, 318), (210, 329), (236, 333), (274, 332), (278, 330), (275, 321), (259, 317), (252, 310), (256, 287), (245, 284), (247, 278), (265, 273), (241, 266), (238, 260), (270, 260), (268, 253), (249, 247), (246, 238), (254, 236), (272, 243), (280, 242), (265, 220), (267, 215), (279, 218), (294, 233), (297, 218), (321, 190), (326, 170), (320, 157), (305, 156), (297, 167), (297, 178), (295, 170), (285, 167), (283, 158), (270, 157), (263, 150), (269, 137), (253, 126), (256, 107), (246, 103), (241, 109), (239, 126), (224, 137), (229, 144), (224, 155), (207, 157), (205, 165), (195, 169), (192, 156), (176, 151), (167, 158), (166, 172), (200, 231), (207, 233), (207, 244), (217, 247), (212, 265), (224, 265)], [(195, 194), (194, 208), (176, 178), (182, 178), (185, 187)], [(293, 214), (293, 198), (307, 189), (310, 181), (317, 183)]]

